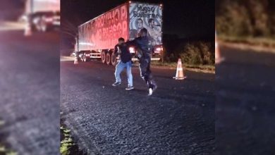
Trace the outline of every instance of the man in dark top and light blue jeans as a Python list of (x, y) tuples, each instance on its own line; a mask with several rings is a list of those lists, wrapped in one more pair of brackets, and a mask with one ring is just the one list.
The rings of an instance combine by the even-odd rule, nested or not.
[(116, 65), (116, 82), (114, 82), (113, 86), (116, 87), (118, 85), (121, 85), (121, 72), (124, 70), (124, 68), (126, 68), (128, 77), (128, 87), (126, 87), (126, 90), (134, 89), (132, 75), (132, 57), (128, 45), (125, 43), (125, 40), (122, 37), (118, 39), (118, 44), (116, 44), (114, 52), (115, 54), (120, 54), (121, 60)]

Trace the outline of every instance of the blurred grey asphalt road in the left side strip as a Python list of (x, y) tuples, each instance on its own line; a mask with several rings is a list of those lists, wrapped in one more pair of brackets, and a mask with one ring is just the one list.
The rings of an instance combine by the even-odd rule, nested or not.
[(59, 33), (0, 32), (0, 143), (59, 154)]

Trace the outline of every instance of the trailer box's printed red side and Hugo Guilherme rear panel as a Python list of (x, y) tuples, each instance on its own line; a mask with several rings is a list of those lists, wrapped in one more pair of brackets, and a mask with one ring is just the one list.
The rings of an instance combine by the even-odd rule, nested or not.
[(149, 44), (162, 44), (162, 7), (159, 4), (126, 3), (78, 27), (79, 51), (114, 49), (118, 38), (135, 39), (148, 30)]

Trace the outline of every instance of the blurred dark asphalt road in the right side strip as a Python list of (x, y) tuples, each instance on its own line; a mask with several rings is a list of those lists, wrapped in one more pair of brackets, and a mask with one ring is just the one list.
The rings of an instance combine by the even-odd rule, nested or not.
[(221, 47), (216, 154), (274, 154), (275, 54)]

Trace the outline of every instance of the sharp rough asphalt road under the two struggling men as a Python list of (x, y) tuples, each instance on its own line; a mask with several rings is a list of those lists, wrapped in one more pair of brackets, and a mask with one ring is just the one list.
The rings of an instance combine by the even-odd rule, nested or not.
[(135, 89), (112, 87), (114, 66), (61, 61), (61, 118), (88, 154), (213, 154), (214, 74), (153, 68), (157, 91), (147, 97), (138, 68)]

